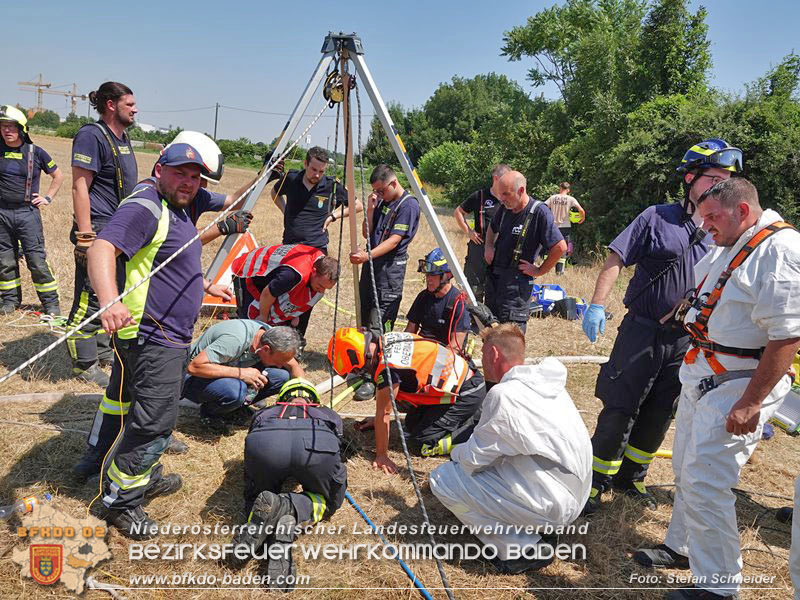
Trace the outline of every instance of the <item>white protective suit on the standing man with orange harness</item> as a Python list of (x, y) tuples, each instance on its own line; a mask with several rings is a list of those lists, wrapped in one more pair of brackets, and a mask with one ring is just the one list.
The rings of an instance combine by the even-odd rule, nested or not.
[[(739, 250), (764, 226), (780, 221), (765, 210), (759, 222), (731, 247), (714, 247), (695, 267), (700, 294), (710, 292)], [(686, 321), (694, 321), (691, 309)], [(760, 348), (770, 340), (800, 337), (800, 234), (776, 233), (762, 242), (733, 271), (711, 313), (708, 337), (718, 344)], [(758, 360), (716, 354), (728, 371), (755, 369)], [(761, 439), (764, 423), (780, 407), (791, 387), (783, 377), (764, 399), (754, 433), (725, 430), (731, 407), (741, 398), (749, 378), (736, 379), (702, 395), (700, 380), (714, 374), (701, 352), (694, 364), (681, 365), (681, 396), (675, 422), (672, 468), (675, 501), (665, 543), (689, 557), (697, 587), (719, 595), (738, 591), (742, 557), (736, 526), (736, 498), (731, 491), (742, 466)], [(714, 582), (714, 579), (717, 582)]]

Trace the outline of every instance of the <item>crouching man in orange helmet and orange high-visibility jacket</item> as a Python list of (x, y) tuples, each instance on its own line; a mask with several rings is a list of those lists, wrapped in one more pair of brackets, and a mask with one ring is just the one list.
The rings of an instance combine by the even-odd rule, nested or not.
[[(381, 338), (363, 329), (342, 327), (328, 345), (328, 360), (339, 375), (373, 376), (378, 387), (375, 418), (359, 424), (375, 429), (372, 466), (396, 473), (389, 458), (389, 412), (392, 386), (398, 409), (406, 413), (406, 443), (422, 456), (446, 455), (466, 441), (480, 416), (486, 384), (478, 369), (451, 348), (412, 333), (387, 333)], [(384, 361), (384, 355), (386, 360)], [(386, 374), (389, 365), (391, 376)]]

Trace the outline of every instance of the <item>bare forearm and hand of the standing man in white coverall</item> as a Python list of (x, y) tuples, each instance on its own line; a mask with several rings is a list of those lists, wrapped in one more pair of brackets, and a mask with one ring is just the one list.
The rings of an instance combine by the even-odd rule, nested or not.
[(733, 405), (725, 425), (728, 433), (744, 435), (758, 427), (761, 404), (792, 365), (800, 338), (772, 340), (764, 348), (753, 378)]

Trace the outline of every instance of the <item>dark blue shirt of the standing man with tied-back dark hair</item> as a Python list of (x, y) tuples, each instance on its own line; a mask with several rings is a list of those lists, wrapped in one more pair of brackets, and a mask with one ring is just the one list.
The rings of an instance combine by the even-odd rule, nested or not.
[[(102, 125), (101, 125), (102, 126)], [(122, 197), (133, 191), (139, 180), (136, 156), (127, 134), (119, 139), (110, 129), (107, 130), (119, 154), (122, 169)], [(117, 197), (116, 169), (114, 156), (103, 132), (96, 125), (84, 125), (72, 140), (72, 166), (92, 171), (94, 179), (89, 188), (89, 205), (92, 224), (105, 224), (119, 206)]]

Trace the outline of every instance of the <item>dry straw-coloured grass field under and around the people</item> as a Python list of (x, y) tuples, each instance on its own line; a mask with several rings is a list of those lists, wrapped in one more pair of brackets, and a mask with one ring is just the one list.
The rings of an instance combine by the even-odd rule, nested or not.
[[(65, 172), (64, 185), (55, 202), (42, 212), (48, 257), (60, 284), (62, 312), (66, 314), (72, 302), (73, 261), (72, 246), (67, 235), (70, 227), (71, 177), (69, 169), (70, 141), (38, 136), (36, 143), (43, 146), (55, 158)], [(140, 174), (149, 174), (155, 160), (154, 154), (139, 154)], [(253, 176), (246, 170), (229, 168), (218, 190), (231, 192)], [(358, 174), (356, 174), (358, 179)], [(256, 206), (256, 218), (252, 231), (260, 244), (280, 241), (281, 215), (271, 202), (262, 197)], [(591, 215), (589, 215), (591, 218)], [(202, 221), (207, 222), (207, 221)], [(465, 245), (453, 219), (442, 218), (450, 240), (459, 253)], [(338, 225), (336, 223), (335, 225)], [(338, 228), (331, 232), (331, 252), (335, 256), (338, 245)], [(349, 239), (345, 224), (345, 244)], [(411, 244), (410, 265), (416, 265), (434, 245), (434, 238), (427, 224), (421, 224), (419, 234)], [(216, 248), (204, 252), (204, 263), (210, 263)], [(344, 255), (346, 256), (346, 251)], [(588, 299), (597, 275), (597, 265), (571, 267), (567, 273), (545, 282), (557, 282), (571, 295)], [(23, 267), (24, 302), (38, 308), (29, 274)], [(421, 289), (421, 278), (409, 268), (405, 282), (405, 295), (401, 313), (408, 309), (414, 295)], [(528, 328), (529, 356), (545, 355), (607, 355), (611, 350), (616, 327), (623, 314), (621, 285), (615, 291), (609, 307), (615, 317), (609, 322), (606, 335), (597, 344), (590, 344), (578, 321), (568, 322), (555, 317), (532, 320)], [(353, 310), (352, 270), (344, 265), (339, 285), (339, 304)], [(333, 293), (328, 298), (333, 301)], [(313, 381), (326, 377), (324, 352), (332, 332), (334, 311), (320, 303), (313, 313), (309, 328), (309, 349), (305, 367)], [(201, 317), (196, 333), (211, 323), (209, 315)], [(341, 313), (339, 326), (350, 323), (350, 317)], [(55, 333), (31, 314), (18, 313), (0, 318), (0, 373), (31, 356), (55, 339)], [(594, 429), (599, 401), (594, 398), (596, 365), (570, 365), (567, 387), (576, 405), (582, 411), (590, 433)], [(3, 408), (0, 418), (0, 499), (11, 502), (29, 494), (49, 491), (55, 496), (55, 506), (74, 516), (85, 515), (86, 506), (96, 495), (96, 486), (77, 485), (70, 476), (70, 469), (83, 451), (85, 431), (89, 428), (97, 401), (84, 394), (97, 394), (102, 390), (79, 384), (68, 378), (69, 359), (61, 346), (36, 363), (31, 369), (13, 378), (0, 387), (3, 397), (33, 392), (59, 392), (66, 395), (55, 401), (30, 399), (9, 402), (0, 398)], [(371, 403), (343, 402), (340, 412), (346, 415), (346, 433), (352, 442), (353, 456), (349, 459), (349, 491), (372, 520), (379, 525), (391, 523), (419, 524), (422, 522), (417, 499), (414, 496), (409, 474), (404, 468), (398, 475), (378, 475), (370, 468), (372, 457), (371, 436), (356, 433), (352, 427), (354, 415), (369, 414)], [(233, 435), (219, 437), (203, 430), (196, 413), (182, 410), (177, 427), (177, 436), (188, 443), (190, 451), (184, 456), (165, 456), (166, 471), (183, 476), (184, 487), (172, 496), (157, 498), (148, 507), (149, 514), (159, 522), (180, 525), (196, 523), (233, 524), (245, 519), (242, 512), (242, 451), (246, 426), (237, 428)], [(672, 431), (664, 446), (671, 447)], [(397, 434), (393, 433), (392, 458), (403, 463)], [(443, 459), (413, 459), (413, 468), (421, 482), (431, 521), (434, 524), (455, 525), (457, 520), (438, 504), (430, 493), (427, 474)], [(740, 487), (750, 493), (737, 497), (739, 528), (742, 547), (745, 549), (744, 573), (748, 576), (775, 576), (769, 587), (742, 592), (745, 599), (785, 599), (790, 597), (790, 580), (787, 557), (790, 542), (789, 527), (778, 523), (772, 509), (789, 504), (775, 496), (792, 496), (792, 481), (800, 470), (796, 452), (796, 441), (782, 432), (763, 443), (752, 464), (745, 467)], [(671, 514), (670, 484), (673, 481), (669, 460), (657, 459), (651, 469), (649, 482), (661, 484), (655, 493), (659, 500), (658, 510), (641, 510), (626, 498), (607, 497), (602, 511), (589, 523), (588, 535), (567, 537), (569, 543), (586, 546), (586, 560), (575, 562), (556, 561), (544, 570), (527, 575), (499, 576), (492, 567), (481, 560), (446, 562), (444, 565), (450, 584), (457, 588), (457, 598), (487, 598), (505, 600), (519, 597), (542, 599), (562, 598), (645, 598), (657, 599), (664, 595), (663, 589), (636, 589), (652, 587), (631, 583), (631, 577), (643, 570), (635, 568), (631, 553), (642, 545), (660, 543)], [(582, 521), (579, 521), (581, 523)], [(19, 568), (11, 562), (11, 550), (17, 544), (15, 535), (17, 521), (12, 519), (0, 527), (0, 596), (3, 598), (53, 598), (70, 597), (62, 586), (52, 588), (39, 586), (19, 575)], [(359, 532), (366, 526), (358, 514), (345, 503), (334, 515), (331, 524), (343, 526), (342, 535), (314, 535), (301, 538), (301, 542), (335, 542), (341, 544), (376, 541)], [(399, 535), (388, 536), (391, 541), (423, 542), (422, 538)], [(128, 558), (129, 542), (112, 530), (107, 538), (114, 555), (113, 560), (93, 569), (100, 581), (128, 586), (129, 576), (195, 572), (213, 574), (220, 579), (230, 571), (214, 561), (193, 562), (191, 560), (171, 562), (132, 561)], [(162, 543), (225, 543), (225, 536), (164, 536)], [(468, 536), (439, 536), (439, 542), (474, 542)], [(435, 564), (432, 561), (410, 561), (411, 569), (419, 576), (436, 598), (444, 598)], [(251, 564), (248, 572), (258, 572), (258, 565)], [(308, 588), (294, 592), (297, 597), (315, 598), (414, 598), (417, 592), (396, 562), (391, 560), (299, 560), (298, 573), (308, 575)], [(680, 572), (653, 572), (661, 575), (663, 586), (667, 576)], [(360, 588), (360, 589), (359, 589)], [(364, 589), (369, 588), (369, 589)], [(128, 598), (255, 598), (264, 593), (261, 589), (201, 590), (201, 589), (129, 589), (123, 591)], [(105, 592), (87, 591), (88, 598), (109, 597)]]

